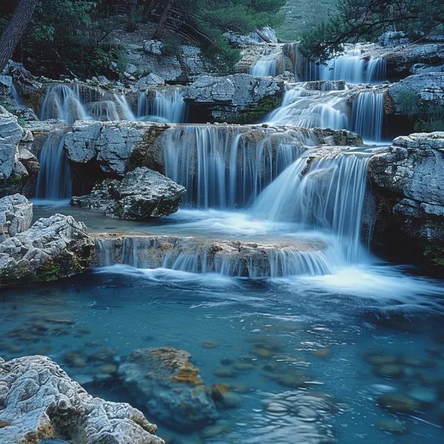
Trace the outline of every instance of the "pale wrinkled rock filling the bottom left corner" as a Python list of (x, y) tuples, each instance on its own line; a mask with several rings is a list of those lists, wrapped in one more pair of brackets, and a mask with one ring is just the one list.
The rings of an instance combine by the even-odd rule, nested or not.
[[(85, 444), (164, 444), (157, 427), (129, 404), (93, 398), (51, 359), (0, 364), (1, 443), (82, 436)], [(51, 441), (49, 441), (51, 442)]]

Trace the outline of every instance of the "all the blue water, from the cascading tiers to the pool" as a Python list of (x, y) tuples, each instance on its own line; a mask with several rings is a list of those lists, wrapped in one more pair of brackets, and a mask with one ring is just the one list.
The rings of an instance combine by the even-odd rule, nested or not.
[[(268, 123), (383, 138), (381, 91), (336, 81), (382, 81), (383, 60), (350, 51), (309, 69), (326, 81), (288, 85)], [(153, 101), (140, 94), (137, 111), (123, 95), (108, 99), (56, 85), (42, 117), (186, 119), (180, 89)], [(35, 205), (35, 217), (72, 214), (89, 232), (115, 236), (97, 241), (101, 266), (85, 275), (4, 292), (2, 357), (49, 355), (89, 393), (142, 409), (170, 444), (443, 441), (444, 281), (368, 251), (366, 169), (375, 151), (316, 148), (305, 128), (273, 131), (164, 131), (165, 173), (187, 188), (168, 218), (119, 221), (62, 202)], [(71, 194), (63, 137), (46, 139), (37, 198)], [(148, 235), (174, 237), (173, 250)], [(226, 242), (230, 253), (218, 255)], [(162, 345), (189, 351), (208, 385), (226, 384), (221, 427), (162, 422), (96, 364), (103, 348), (119, 365), (137, 348)]]

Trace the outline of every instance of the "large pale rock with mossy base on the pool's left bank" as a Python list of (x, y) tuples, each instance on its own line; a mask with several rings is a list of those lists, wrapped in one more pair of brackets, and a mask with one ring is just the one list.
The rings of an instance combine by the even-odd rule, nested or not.
[(85, 271), (94, 241), (82, 222), (56, 214), (0, 244), (0, 285), (56, 280)]

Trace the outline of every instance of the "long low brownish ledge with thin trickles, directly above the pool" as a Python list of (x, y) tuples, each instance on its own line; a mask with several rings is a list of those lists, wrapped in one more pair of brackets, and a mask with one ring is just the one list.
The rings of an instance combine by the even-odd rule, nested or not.
[(194, 237), (94, 234), (94, 264), (128, 264), (138, 268), (170, 268), (191, 273), (264, 278), (310, 273), (316, 268), (327, 273), (319, 241), (282, 241), (258, 244), (214, 241)]

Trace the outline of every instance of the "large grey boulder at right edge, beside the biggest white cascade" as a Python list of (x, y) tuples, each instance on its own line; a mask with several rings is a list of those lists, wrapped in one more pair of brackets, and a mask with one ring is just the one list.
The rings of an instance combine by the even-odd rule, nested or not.
[(444, 245), (444, 132), (397, 137), (371, 158), (368, 174), (391, 196), (384, 225), (427, 246)]

